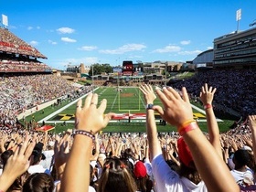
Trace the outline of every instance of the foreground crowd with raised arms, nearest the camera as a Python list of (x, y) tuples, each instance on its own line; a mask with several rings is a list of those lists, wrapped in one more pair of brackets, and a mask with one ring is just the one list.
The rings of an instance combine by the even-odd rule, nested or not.
[[(146, 110), (147, 133), (99, 132), (114, 114), (102, 115), (106, 102), (101, 101), (100, 106), (96, 108), (98, 102), (96, 94), (90, 94), (84, 106), (78, 101), (75, 125), (78, 132), (67, 130), (59, 134), (36, 133), (22, 128), (1, 128), (3, 175), (0, 176), (0, 189), (27, 192), (70, 191), (70, 188), (73, 188), (72, 191), (84, 189), (82, 191), (106, 192), (195, 190), (228, 192), (230, 188), (232, 191), (239, 191), (237, 183), (240, 191), (255, 190), (256, 166), (253, 153), (255, 154), (256, 148), (256, 117), (251, 116), (246, 123), (227, 133), (219, 134), (216, 120), (210, 118), (214, 116), (211, 99), (216, 90), (207, 88), (206, 93), (202, 89), (200, 100), (206, 106), (208, 133), (201, 133), (195, 121), (186, 121), (187, 123), (182, 123), (180, 128), (176, 122), (188, 114), (188, 109), (185, 107), (189, 106), (184, 94), (186, 92), (183, 91), (184, 102), (176, 91), (168, 89), (169, 92), (166, 93), (165, 90), (163, 93), (157, 92), (164, 102), (165, 111), (156, 106), (149, 106)], [(149, 89), (143, 91), (146, 103), (154, 103), (154, 92)], [(162, 96), (164, 93), (168, 99)], [(172, 104), (168, 105), (170, 102)], [(168, 111), (169, 107), (173, 109)], [(153, 110), (160, 112), (168, 123), (179, 127), (177, 133), (157, 134), (155, 120), (151, 119), (154, 117)], [(193, 117), (192, 109), (190, 111), (189, 116)], [(176, 113), (177, 116), (174, 115), (170, 120), (168, 119), (170, 114), (165, 114), (166, 112)], [(104, 118), (103, 121), (101, 118)], [(98, 128), (95, 128), (96, 126)], [(31, 143), (27, 142), (28, 138)], [(181, 142), (181, 138), (186, 143)], [(205, 145), (207, 145), (206, 151), (202, 149)], [(27, 150), (22, 147), (27, 147)], [(24, 162), (20, 163), (28, 158), (28, 165)], [(162, 158), (163, 160), (160, 160)], [(17, 161), (16, 164), (14, 160)], [(89, 165), (85, 163), (87, 160)], [(12, 170), (17, 168), (16, 166), (10, 168), (11, 165), (27, 166), (22, 170), (19, 168), (14, 174), (16, 179), (13, 179), (8, 172), (14, 173)], [(186, 175), (186, 173), (190, 174)], [(196, 177), (193, 177), (194, 175)]]

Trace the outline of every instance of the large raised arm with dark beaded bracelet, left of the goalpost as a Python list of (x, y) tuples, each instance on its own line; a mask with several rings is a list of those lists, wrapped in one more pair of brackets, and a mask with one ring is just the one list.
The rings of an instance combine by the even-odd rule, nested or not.
[[(113, 113), (104, 115), (107, 101), (97, 108), (98, 95), (88, 94), (84, 106), (77, 103), (76, 130), (69, 159), (61, 180), (60, 191), (88, 191), (90, 182), (90, 157), (94, 134), (104, 128)], [(70, 179), (72, 178), (72, 179)]]

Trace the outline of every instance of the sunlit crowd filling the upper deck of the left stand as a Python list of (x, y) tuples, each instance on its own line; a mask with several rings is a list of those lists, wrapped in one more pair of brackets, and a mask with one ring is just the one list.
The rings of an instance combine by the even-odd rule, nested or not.
[(31, 47), (24, 40), (16, 37), (4, 27), (0, 27), (0, 51), (47, 59), (47, 57), (41, 54), (37, 48)]

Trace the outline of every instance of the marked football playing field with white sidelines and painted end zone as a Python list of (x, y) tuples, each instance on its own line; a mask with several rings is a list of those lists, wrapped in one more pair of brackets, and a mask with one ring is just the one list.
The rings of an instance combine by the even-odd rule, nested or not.
[[(94, 90), (99, 95), (99, 103), (102, 99), (107, 100), (108, 112), (115, 112), (116, 116), (111, 123), (145, 123), (145, 103), (144, 96), (138, 87), (101, 87)], [(86, 95), (81, 98), (84, 101)], [(66, 106), (56, 112), (52, 112), (38, 123), (74, 123), (76, 102), (71, 101)], [(156, 98), (155, 105), (162, 105), (161, 101)], [(197, 122), (206, 122), (205, 111), (192, 105), (194, 118)], [(160, 122), (159, 114), (155, 113), (156, 122)], [(218, 122), (222, 120), (217, 119)]]

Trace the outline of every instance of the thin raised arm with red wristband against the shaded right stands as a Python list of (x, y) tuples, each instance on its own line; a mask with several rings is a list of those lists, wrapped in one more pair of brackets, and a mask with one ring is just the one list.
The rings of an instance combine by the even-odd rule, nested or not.
[(208, 84), (206, 83), (201, 89), (200, 100), (203, 102), (206, 115), (207, 115), (209, 142), (216, 149), (219, 156), (222, 157), (220, 138), (219, 138), (219, 126), (216, 121), (216, 117), (212, 107), (212, 101), (213, 101), (215, 91), (216, 91), (216, 88), (214, 89), (212, 87), (208, 88)]

